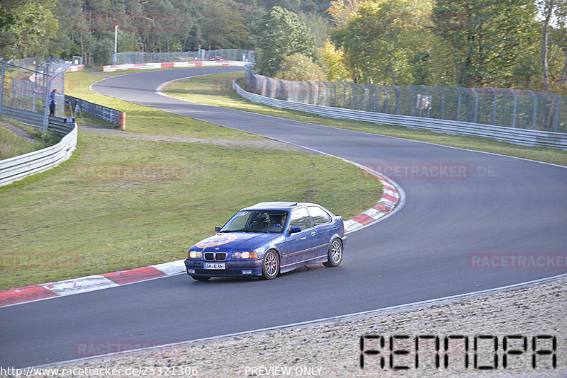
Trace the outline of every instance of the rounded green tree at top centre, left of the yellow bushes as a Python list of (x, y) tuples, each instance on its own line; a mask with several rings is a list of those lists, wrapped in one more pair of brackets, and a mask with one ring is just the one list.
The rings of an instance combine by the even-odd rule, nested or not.
[(255, 47), (260, 49), (257, 69), (262, 75), (274, 76), (283, 58), (296, 52), (317, 59), (315, 38), (308, 28), (298, 20), (296, 13), (279, 6), (271, 8), (252, 33)]

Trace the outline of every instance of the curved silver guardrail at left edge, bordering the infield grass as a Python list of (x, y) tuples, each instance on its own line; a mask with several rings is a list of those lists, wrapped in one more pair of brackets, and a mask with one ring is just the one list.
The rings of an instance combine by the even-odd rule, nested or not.
[[(6, 108), (4, 108), (4, 111), (6, 111)], [(64, 137), (59, 143), (45, 149), (0, 160), (0, 186), (21, 180), (33, 175), (33, 173), (53, 168), (69, 159), (75, 147), (77, 147), (77, 123), (65, 124), (64, 119), (51, 117), (48, 130), (64, 134)]]

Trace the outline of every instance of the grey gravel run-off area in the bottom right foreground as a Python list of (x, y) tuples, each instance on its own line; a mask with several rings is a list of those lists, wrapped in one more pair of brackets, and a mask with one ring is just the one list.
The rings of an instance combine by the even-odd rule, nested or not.
[[(60, 377), (69, 376), (70, 372), (89, 377), (101, 374), (106, 377), (143, 374), (148, 377), (567, 377), (566, 314), (567, 277), (562, 275), (537, 284), (458, 299), (50, 367), (59, 367)], [(361, 344), (361, 336), (378, 338), (364, 338)], [(393, 343), (394, 352), (408, 350), (408, 353), (389, 350), (393, 336), (409, 336), (409, 340), (396, 338)], [(437, 337), (439, 347), (434, 338), (420, 338), (416, 353), (416, 336)], [(548, 336), (555, 338), (556, 345), (554, 338)], [(448, 352), (445, 352), (446, 338)], [(504, 338), (509, 352), (506, 367), (503, 367)], [(373, 350), (378, 354), (372, 354)], [(498, 366), (483, 369), (496, 366), (495, 354)], [(364, 355), (364, 368), (360, 367), (361, 355)], [(444, 367), (446, 355), (448, 367)], [(409, 369), (391, 368), (391, 356), (394, 366)], [(466, 356), (468, 367), (465, 367)], [(384, 367), (381, 367), (382, 357)]]

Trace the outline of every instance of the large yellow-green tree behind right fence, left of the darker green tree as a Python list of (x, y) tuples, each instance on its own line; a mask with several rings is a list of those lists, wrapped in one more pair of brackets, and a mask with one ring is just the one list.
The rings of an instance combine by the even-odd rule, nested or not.
[(433, 38), (431, 7), (431, 1), (422, 0), (362, 3), (344, 26), (331, 33), (335, 46), (344, 49), (352, 81), (390, 85), (423, 81)]

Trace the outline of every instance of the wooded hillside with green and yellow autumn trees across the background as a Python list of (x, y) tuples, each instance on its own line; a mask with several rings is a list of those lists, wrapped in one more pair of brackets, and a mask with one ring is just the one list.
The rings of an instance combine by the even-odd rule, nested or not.
[(108, 64), (114, 25), (118, 52), (256, 50), (282, 78), (567, 92), (567, 0), (3, 0), (0, 57)]

